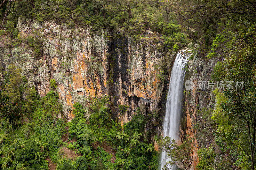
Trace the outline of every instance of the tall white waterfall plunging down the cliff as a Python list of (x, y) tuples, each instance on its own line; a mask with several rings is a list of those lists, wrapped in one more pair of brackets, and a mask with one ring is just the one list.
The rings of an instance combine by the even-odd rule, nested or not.
[[(177, 142), (179, 137), (179, 125), (180, 125), (180, 114), (181, 105), (183, 99), (183, 89), (184, 89), (184, 76), (185, 64), (188, 62), (188, 57), (191, 54), (182, 54), (178, 52), (176, 59), (172, 67), (172, 74), (170, 78), (169, 91), (166, 101), (166, 114), (164, 118), (164, 132), (163, 137), (170, 136)], [(164, 167), (165, 163), (170, 159), (167, 158), (167, 153), (162, 152), (161, 157), (161, 169)], [(173, 167), (172, 169), (176, 169)]]

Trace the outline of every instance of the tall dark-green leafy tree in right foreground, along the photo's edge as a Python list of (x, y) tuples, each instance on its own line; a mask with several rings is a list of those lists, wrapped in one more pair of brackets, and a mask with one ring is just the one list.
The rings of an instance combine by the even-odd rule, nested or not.
[(255, 169), (256, 162), (255, 38), (255, 31), (242, 34), (242, 40), (233, 42), (236, 48), (229, 50), (224, 68), (216, 70), (220, 80), (234, 84), (234, 88), (225, 89), (227, 100), (221, 104), (224, 115), (228, 118), (229, 128), (218, 122), (216, 136), (224, 139), (231, 147), (233, 155), (241, 161), (240, 166), (252, 170)]

